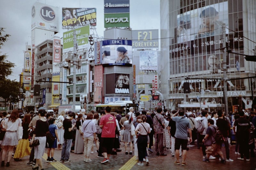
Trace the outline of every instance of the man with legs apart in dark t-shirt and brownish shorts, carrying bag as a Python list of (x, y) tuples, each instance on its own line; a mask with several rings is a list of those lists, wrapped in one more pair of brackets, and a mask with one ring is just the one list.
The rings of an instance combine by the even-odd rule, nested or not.
[(221, 163), (226, 162), (221, 151), (221, 145), (215, 140), (216, 131), (217, 128), (214, 126), (214, 121), (212, 119), (208, 119), (208, 128), (203, 138), (204, 146), (206, 146), (206, 158), (203, 159), (204, 162), (210, 162), (210, 156), (215, 153), (220, 155)]

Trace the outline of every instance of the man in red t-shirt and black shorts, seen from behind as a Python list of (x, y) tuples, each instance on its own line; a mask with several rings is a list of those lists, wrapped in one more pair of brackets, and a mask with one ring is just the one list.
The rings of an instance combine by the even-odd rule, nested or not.
[(109, 162), (109, 157), (112, 152), (113, 144), (116, 137), (116, 119), (114, 116), (110, 115), (110, 111), (111, 107), (107, 106), (105, 108), (106, 115), (100, 118), (100, 128), (102, 128), (102, 154), (104, 156), (104, 159), (101, 162), (102, 164)]

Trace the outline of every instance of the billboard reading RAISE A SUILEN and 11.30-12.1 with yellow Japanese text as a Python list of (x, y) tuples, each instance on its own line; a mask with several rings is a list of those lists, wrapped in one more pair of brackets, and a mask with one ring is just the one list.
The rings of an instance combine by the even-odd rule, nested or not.
[(96, 8), (62, 8), (62, 28), (96, 26)]

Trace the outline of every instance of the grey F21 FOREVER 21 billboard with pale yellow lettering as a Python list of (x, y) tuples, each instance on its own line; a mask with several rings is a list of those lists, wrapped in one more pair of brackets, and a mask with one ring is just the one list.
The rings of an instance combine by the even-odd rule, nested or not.
[(158, 30), (133, 30), (132, 48), (158, 48)]

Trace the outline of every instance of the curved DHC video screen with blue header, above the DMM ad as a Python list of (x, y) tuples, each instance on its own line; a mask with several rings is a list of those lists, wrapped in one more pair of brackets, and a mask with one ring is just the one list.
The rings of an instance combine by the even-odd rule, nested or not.
[(103, 66), (132, 66), (131, 40), (105, 40), (100, 50)]

